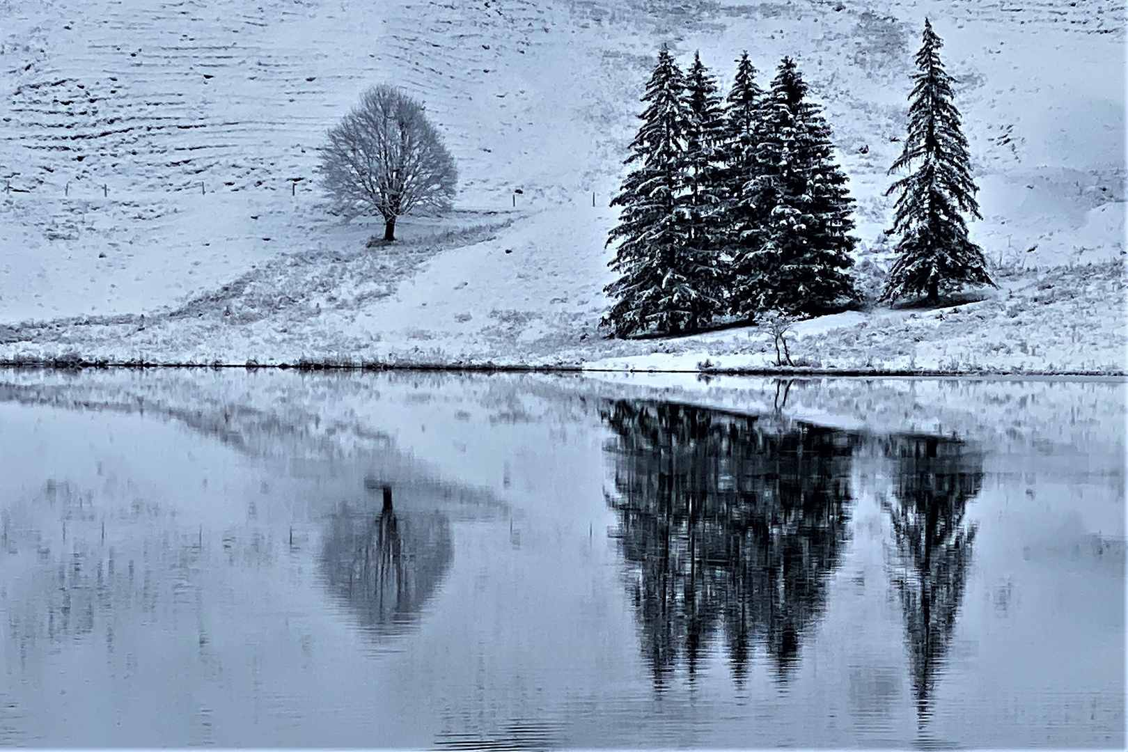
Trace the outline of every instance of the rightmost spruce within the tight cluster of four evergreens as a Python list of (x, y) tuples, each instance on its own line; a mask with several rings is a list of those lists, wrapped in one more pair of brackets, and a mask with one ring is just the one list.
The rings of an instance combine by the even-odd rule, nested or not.
[(834, 161), (830, 126), (795, 63), (784, 57), (761, 109), (755, 175), (748, 202), (763, 212), (758, 242), (734, 260), (747, 276), (734, 281), (732, 310), (755, 316), (774, 309), (810, 316), (841, 309), (857, 299), (846, 269), (855, 238), (853, 198)]

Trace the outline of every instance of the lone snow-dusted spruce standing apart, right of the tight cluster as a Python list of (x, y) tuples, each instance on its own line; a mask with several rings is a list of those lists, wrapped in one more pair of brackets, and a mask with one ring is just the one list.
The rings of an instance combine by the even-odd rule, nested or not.
[(961, 212), (982, 219), (968, 163), (968, 140), (960, 113), (952, 105), (952, 77), (940, 60), (943, 42), (924, 21), (916, 56), (919, 72), (909, 94), (909, 130), (901, 156), (890, 174), (917, 166), (893, 183), (885, 195), (897, 197), (890, 233), (900, 236), (897, 260), (885, 281), (882, 300), (925, 295), (936, 303), (941, 291), (967, 284), (996, 285), (987, 274), (982, 250), (968, 239)]

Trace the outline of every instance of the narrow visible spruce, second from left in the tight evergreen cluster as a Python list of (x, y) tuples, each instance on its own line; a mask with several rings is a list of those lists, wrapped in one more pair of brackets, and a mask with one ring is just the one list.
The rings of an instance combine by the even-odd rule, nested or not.
[(694, 63), (686, 74), (686, 101), (689, 105), (689, 129), (686, 132), (686, 203), (689, 237), (687, 245), (706, 268), (710, 278), (708, 298), (714, 302), (710, 317), (720, 312), (721, 249), (724, 228), (721, 209), (724, 203), (722, 180), (724, 112), (716, 82), (694, 53)]

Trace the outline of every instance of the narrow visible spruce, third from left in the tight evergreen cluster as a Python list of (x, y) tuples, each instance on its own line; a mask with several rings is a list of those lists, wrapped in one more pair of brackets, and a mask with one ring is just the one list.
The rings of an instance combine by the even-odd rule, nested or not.
[(746, 315), (739, 304), (755, 298), (755, 290), (763, 285), (751, 266), (748, 251), (761, 242), (760, 229), (764, 213), (751, 189), (757, 170), (756, 148), (760, 138), (764, 90), (756, 83), (756, 68), (748, 52), (737, 60), (737, 76), (725, 103), (725, 133), (722, 142), (721, 175), (725, 202), (722, 225), (726, 236), (728, 253), (732, 259), (725, 268), (725, 287), (730, 307), (735, 304), (738, 315)]

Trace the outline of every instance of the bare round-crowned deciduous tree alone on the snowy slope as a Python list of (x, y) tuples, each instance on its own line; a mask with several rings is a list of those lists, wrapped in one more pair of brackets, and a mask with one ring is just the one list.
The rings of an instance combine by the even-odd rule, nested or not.
[(364, 92), (329, 129), (320, 149), (321, 187), (345, 215), (379, 214), (384, 239), (414, 209), (446, 209), (458, 170), (423, 105), (388, 85)]

